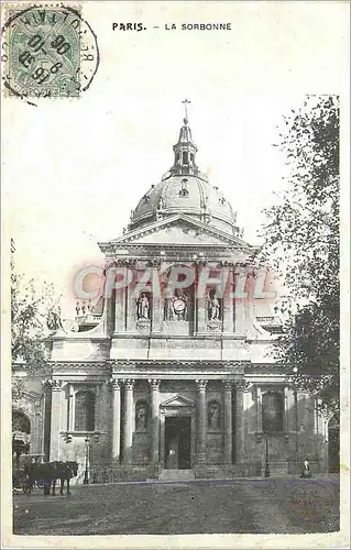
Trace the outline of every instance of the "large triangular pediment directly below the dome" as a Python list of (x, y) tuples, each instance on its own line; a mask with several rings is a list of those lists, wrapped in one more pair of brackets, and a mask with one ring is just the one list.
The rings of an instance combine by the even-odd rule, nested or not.
[(175, 215), (124, 233), (110, 244), (188, 244), (213, 245), (226, 244), (239, 249), (250, 248), (245, 241), (221, 231), (212, 226), (195, 220), (186, 215)]

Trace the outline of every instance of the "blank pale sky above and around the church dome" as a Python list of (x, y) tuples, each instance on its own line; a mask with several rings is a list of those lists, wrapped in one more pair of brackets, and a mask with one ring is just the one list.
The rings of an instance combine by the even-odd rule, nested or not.
[[(3, 216), (18, 270), (65, 295), (75, 270), (101, 262), (130, 210), (173, 164), (184, 117), (200, 169), (210, 169), (252, 244), (262, 208), (283, 189), (273, 146), (304, 94), (348, 86), (348, 3), (83, 2), (101, 63), (79, 99), (3, 107)], [(112, 32), (142, 21), (158, 31)], [(165, 31), (171, 22), (231, 22), (231, 31)], [(66, 304), (66, 305), (65, 305)], [(66, 296), (64, 308), (69, 309)], [(68, 307), (69, 306), (69, 307)]]

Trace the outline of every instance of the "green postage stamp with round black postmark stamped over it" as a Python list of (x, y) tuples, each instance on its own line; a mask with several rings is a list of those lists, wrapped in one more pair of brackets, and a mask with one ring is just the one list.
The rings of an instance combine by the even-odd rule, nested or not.
[(95, 77), (99, 48), (80, 8), (8, 7), (1, 61), (8, 96), (77, 98)]

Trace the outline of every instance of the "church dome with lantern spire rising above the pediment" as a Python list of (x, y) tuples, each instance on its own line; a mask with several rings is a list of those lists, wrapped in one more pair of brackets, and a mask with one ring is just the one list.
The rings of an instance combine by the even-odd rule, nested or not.
[(129, 230), (139, 229), (156, 220), (184, 213), (208, 223), (226, 233), (239, 234), (237, 213), (218, 187), (196, 165), (197, 147), (193, 142), (188, 119), (184, 119), (174, 150), (174, 165), (152, 185), (131, 212)]

